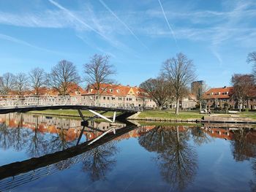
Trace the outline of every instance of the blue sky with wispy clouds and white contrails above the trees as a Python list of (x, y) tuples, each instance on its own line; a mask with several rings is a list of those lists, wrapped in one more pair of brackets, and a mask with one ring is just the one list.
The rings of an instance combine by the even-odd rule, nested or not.
[(97, 53), (110, 55), (117, 82), (140, 85), (182, 52), (197, 80), (223, 87), (252, 71), (255, 18), (255, 0), (0, 0), (0, 75), (65, 59), (83, 77)]

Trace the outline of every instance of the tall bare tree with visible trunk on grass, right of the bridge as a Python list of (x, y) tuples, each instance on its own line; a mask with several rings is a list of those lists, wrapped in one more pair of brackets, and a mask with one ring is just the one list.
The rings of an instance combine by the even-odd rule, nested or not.
[(178, 115), (179, 101), (188, 94), (190, 82), (195, 80), (195, 66), (183, 53), (176, 58), (167, 59), (162, 66), (162, 75), (173, 85), (176, 99), (176, 115)]

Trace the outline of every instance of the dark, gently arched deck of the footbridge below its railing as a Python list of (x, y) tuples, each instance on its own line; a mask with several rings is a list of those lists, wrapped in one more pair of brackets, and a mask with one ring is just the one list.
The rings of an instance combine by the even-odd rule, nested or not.
[(0, 114), (10, 112), (29, 112), (42, 110), (97, 110), (97, 111), (112, 111), (112, 112), (127, 112), (135, 114), (138, 110), (129, 110), (113, 107), (96, 107), (86, 105), (34, 105), (34, 106), (19, 106), (19, 107), (0, 107)]

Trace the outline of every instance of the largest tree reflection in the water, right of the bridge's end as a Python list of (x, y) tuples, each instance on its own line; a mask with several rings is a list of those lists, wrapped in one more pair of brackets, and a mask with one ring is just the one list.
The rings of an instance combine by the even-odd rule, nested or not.
[(163, 179), (173, 188), (184, 190), (197, 170), (197, 155), (187, 143), (189, 132), (179, 127), (157, 127), (139, 138), (148, 151), (156, 151), (156, 162)]

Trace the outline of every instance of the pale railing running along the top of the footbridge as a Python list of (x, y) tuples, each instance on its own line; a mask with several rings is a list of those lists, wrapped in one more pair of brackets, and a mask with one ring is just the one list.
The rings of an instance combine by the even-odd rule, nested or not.
[(94, 107), (108, 107), (124, 110), (142, 110), (141, 107), (120, 106), (114, 101), (111, 103), (100, 103), (88, 96), (17, 96), (0, 95), (0, 109), (4, 107), (26, 107), (26, 106), (53, 106), (53, 105), (85, 105)]

